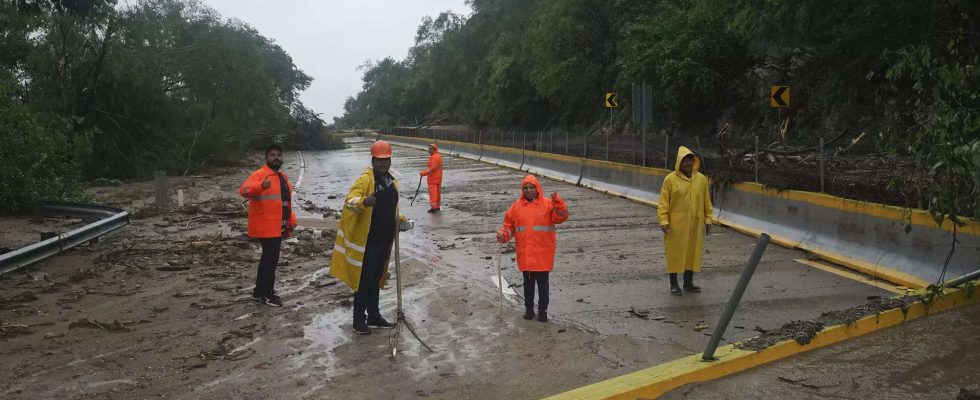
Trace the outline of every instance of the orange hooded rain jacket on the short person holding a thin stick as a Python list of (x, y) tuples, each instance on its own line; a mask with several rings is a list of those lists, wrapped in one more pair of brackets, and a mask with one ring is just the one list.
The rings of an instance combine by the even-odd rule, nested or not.
[[(531, 183), (538, 189), (538, 198), (527, 201), (524, 185)], [(521, 271), (551, 271), (555, 264), (555, 244), (558, 234), (556, 224), (568, 219), (568, 207), (557, 193), (544, 197), (541, 184), (534, 175), (521, 182), (521, 198), (514, 202), (504, 215), (500, 228), (504, 240), (511, 237), (517, 245), (517, 268)]]

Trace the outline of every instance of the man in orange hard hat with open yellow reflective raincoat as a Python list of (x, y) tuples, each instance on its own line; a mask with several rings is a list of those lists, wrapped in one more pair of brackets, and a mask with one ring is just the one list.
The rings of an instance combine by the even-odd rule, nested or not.
[(398, 181), (390, 168), (391, 145), (374, 142), (371, 168), (357, 178), (344, 200), (330, 261), (330, 275), (354, 291), (354, 332), (360, 334), (395, 326), (378, 309), (398, 221), (404, 220), (398, 214)]

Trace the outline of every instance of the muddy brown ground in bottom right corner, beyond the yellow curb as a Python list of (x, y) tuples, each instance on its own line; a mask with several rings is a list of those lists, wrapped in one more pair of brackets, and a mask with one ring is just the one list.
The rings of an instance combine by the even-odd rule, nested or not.
[(977, 399), (980, 306), (689, 385), (664, 399)]

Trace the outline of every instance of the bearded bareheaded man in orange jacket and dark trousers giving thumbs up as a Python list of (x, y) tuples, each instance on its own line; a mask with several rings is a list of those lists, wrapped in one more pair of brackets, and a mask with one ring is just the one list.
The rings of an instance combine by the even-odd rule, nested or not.
[(271, 145), (265, 150), (265, 165), (252, 173), (238, 189), (248, 203), (248, 236), (259, 239), (262, 257), (255, 276), (252, 298), (273, 307), (282, 306), (276, 294), (276, 265), (282, 239), (296, 229), (293, 214), (293, 187), (280, 171), (282, 147)]

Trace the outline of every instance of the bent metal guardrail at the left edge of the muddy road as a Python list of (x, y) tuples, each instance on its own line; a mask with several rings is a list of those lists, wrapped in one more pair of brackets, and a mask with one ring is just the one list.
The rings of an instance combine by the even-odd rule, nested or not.
[(45, 215), (67, 215), (80, 218), (97, 217), (99, 220), (32, 245), (0, 254), (0, 274), (44, 260), (129, 224), (129, 213), (112, 207), (44, 202), (41, 203), (39, 211)]

